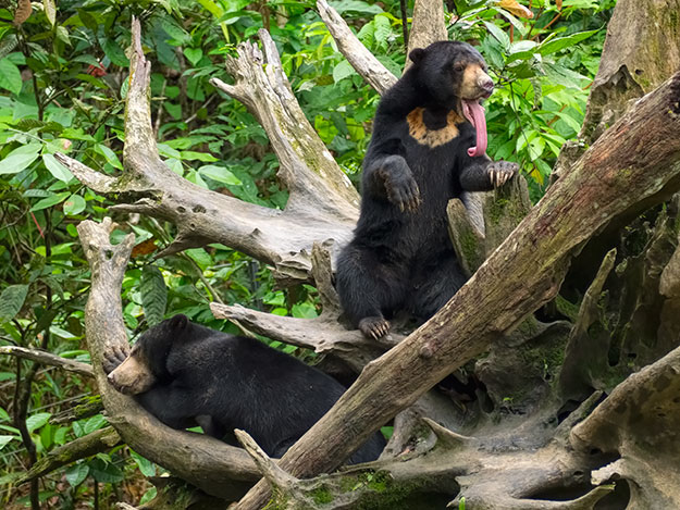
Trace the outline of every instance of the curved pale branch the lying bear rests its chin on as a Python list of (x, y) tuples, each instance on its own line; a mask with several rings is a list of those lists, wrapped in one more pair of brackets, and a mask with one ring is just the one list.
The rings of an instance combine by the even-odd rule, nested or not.
[(112, 245), (109, 235), (113, 227), (108, 217), (102, 223), (85, 221), (77, 227), (92, 274), (85, 329), (109, 423), (135, 451), (206, 493), (223, 498), (238, 497), (258, 477), (252, 461), (242, 449), (200, 434), (166, 427), (107, 381), (101, 365), (103, 352), (129, 349), (123, 325), (121, 284), (134, 236), (131, 234), (119, 245)]

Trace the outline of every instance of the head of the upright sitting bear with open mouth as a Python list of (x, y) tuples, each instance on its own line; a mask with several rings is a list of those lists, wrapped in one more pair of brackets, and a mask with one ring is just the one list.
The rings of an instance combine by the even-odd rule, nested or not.
[(466, 108), (466, 103), (477, 103), (494, 90), (484, 58), (467, 42), (434, 42), (412, 50), (409, 58), (419, 87), (443, 107)]

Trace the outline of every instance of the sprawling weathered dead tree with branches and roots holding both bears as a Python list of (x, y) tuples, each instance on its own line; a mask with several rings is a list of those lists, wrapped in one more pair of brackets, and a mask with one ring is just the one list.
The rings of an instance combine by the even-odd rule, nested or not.
[[(432, 0), (416, 4), (415, 16), (416, 11), (442, 10)], [(319, 11), (359, 74), (385, 90), (396, 78), (361, 50), (324, 0)], [(418, 27), (436, 34), (441, 26), (434, 25), (415, 23), (411, 41), (429, 42)], [(262, 474), (274, 487), (277, 508), (394, 508), (390, 498), (395, 495), (400, 501), (424, 497), (432, 508), (461, 497), (470, 508), (498, 510), (590, 509), (605, 497), (614, 508), (680, 506), (680, 484), (663, 480), (677, 470), (680, 444), (680, 402), (673, 397), (680, 381), (678, 202), (630, 227), (644, 248), (622, 246), (601, 258), (580, 302), (557, 297), (561, 316), (570, 321), (543, 324), (532, 315), (556, 298), (570, 260), (589, 239), (680, 189), (680, 73), (653, 91), (645, 89), (650, 94), (574, 160), (531, 211), (520, 182), (503, 191), (509, 197), (477, 197), (467, 210), (452, 201), (454, 245), (473, 276), (406, 339), (394, 335), (376, 345), (342, 326), (332, 286), (334, 256), (357, 217), (356, 191), (299, 110), (269, 34), (260, 32), (262, 51), (245, 43), (228, 60), (234, 85), (215, 86), (243, 101), (268, 132), (281, 161), (280, 177), (290, 191), (283, 212), (195, 187), (164, 166), (152, 136), (150, 64), (138, 24), (133, 38), (125, 173), (114, 178), (64, 156), (60, 161), (92, 189), (134, 201), (115, 211), (173, 221), (178, 235), (165, 253), (219, 241), (271, 264), (286, 284), (314, 282), (324, 310), (317, 320), (276, 318), (238, 306), (212, 309), (244, 328), (316, 349), (361, 374), (279, 464), (247, 435), (240, 437), (256, 462), (243, 450), (169, 430), (106, 382), (102, 352), (127, 348), (120, 283), (132, 238), (111, 246), (110, 221), (84, 222), (79, 233), (92, 269), (88, 344), (107, 413), (124, 441), (230, 501)], [(472, 212), (471, 203), (477, 203)], [(484, 216), (484, 209), (494, 214)], [(471, 366), (485, 350), (489, 356)], [(631, 353), (636, 356), (632, 363)], [(426, 394), (466, 363), (483, 384), (468, 409)], [(319, 474), (338, 467), (395, 415), (395, 437), (382, 460)], [(417, 421), (422, 415), (426, 428)], [(648, 431), (655, 439), (643, 441)], [(401, 453), (407, 443), (415, 446)], [(596, 486), (617, 478), (627, 482), (616, 489)], [(262, 508), (270, 499), (268, 487), (257, 484), (237, 508)], [(554, 497), (565, 490), (568, 499)]]

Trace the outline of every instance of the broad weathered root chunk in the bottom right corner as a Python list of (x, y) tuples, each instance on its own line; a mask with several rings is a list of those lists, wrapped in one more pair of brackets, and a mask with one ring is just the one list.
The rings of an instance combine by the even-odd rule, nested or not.
[(593, 481), (628, 481), (628, 508), (679, 508), (680, 472), (668, 468), (680, 458), (680, 348), (619, 384), (570, 439), (580, 451), (619, 456)]

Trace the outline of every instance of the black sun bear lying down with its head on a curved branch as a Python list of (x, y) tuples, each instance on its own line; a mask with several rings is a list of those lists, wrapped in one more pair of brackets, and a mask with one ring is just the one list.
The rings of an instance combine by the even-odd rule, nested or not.
[[(109, 382), (165, 425), (201, 425), (219, 439), (243, 428), (281, 457), (343, 395), (331, 376), (255, 338), (227, 335), (175, 315), (144, 333), (127, 357), (104, 354)], [(375, 433), (349, 459), (375, 460)]]

